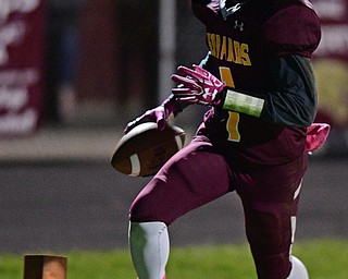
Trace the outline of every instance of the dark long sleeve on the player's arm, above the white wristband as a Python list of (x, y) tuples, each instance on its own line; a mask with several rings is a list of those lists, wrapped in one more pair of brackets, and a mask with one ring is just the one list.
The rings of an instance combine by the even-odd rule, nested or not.
[(263, 94), (260, 118), (273, 123), (309, 126), (315, 117), (316, 90), (311, 61), (286, 56), (272, 61), (271, 72), (277, 90)]

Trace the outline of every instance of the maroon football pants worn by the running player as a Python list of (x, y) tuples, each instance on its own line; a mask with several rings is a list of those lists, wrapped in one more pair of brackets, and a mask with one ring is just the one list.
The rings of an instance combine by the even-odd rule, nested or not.
[[(227, 160), (206, 137), (196, 137), (144, 187), (130, 207), (132, 221), (167, 226), (186, 213), (236, 191), (247, 238), (261, 279), (287, 278), (297, 215), (302, 157), (282, 166), (241, 166)], [(232, 213), (233, 214), (233, 213)], [(291, 222), (293, 220), (293, 222)], [(293, 223), (293, 226), (291, 226)]]

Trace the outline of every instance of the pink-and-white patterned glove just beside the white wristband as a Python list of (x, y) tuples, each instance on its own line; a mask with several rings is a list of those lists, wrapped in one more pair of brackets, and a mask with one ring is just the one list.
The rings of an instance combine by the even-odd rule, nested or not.
[(173, 74), (172, 80), (182, 86), (172, 89), (175, 100), (185, 104), (199, 104), (217, 106), (222, 100), (222, 92), (226, 85), (207, 70), (194, 65), (194, 70), (178, 66), (177, 71), (183, 74)]

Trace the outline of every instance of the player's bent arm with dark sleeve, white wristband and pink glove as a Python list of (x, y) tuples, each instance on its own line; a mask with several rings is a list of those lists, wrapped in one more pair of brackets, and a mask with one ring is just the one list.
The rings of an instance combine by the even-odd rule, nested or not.
[(179, 66), (178, 72), (186, 76), (172, 76), (173, 81), (185, 84), (184, 88), (173, 89), (179, 102), (221, 107), (282, 125), (308, 126), (314, 119), (316, 94), (307, 58), (285, 56), (275, 59), (271, 72), (277, 89), (262, 94), (229, 88), (196, 65), (194, 70)]

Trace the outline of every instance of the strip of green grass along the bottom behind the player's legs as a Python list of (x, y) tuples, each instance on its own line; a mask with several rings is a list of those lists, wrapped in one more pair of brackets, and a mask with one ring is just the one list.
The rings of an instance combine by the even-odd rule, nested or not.
[[(346, 279), (348, 240), (298, 242), (294, 254), (306, 264), (310, 278)], [(128, 251), (69, 252), (67, 279), (135, 279)], [(23, 278), (23, 255), (0, 255), (0, 278)], [(247, 244), (173, 247), (169, 279), (256, 279)]]

